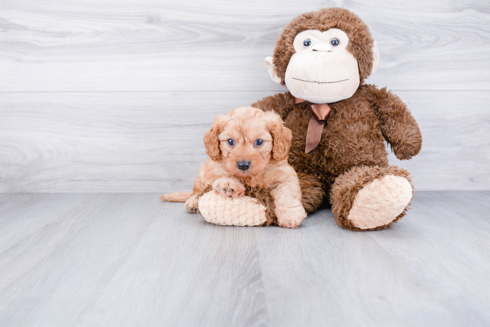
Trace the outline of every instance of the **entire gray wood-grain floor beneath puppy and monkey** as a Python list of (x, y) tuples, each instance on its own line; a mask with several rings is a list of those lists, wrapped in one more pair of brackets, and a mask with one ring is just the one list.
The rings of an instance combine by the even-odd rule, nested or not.
[(222, 227), (159, 194), (0, 194), (0, 326), (488, 326), (490, 191), (392, 228)]

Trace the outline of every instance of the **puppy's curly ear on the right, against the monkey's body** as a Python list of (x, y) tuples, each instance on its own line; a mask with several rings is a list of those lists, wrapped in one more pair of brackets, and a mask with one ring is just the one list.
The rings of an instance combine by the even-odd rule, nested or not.
[(267, 126), (272, 135), (272, 156), (276, 160), (284, 160), (291, 146), (291, 130), (284, 127), (282, 119), (275, 112), (265, 112), (265, 118), (268, 120)]

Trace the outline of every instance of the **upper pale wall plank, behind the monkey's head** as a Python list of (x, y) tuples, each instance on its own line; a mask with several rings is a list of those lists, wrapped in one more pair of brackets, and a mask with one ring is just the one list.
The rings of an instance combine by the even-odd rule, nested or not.
[(490, 90), (490, 3), (472, 1), (3, 0), (0, 91), (283, 90), (281, 29), (327, 6), (356, 12), (395, 90)]

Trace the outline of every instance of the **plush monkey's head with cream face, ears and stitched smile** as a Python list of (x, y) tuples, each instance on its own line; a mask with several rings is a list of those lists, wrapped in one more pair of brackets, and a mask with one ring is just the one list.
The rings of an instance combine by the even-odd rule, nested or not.
[(367, 25), (347, 9), (325, 8), (291, 20), (265, 65), (295, 97), (330, 103), (351, 97), (378, 61)]

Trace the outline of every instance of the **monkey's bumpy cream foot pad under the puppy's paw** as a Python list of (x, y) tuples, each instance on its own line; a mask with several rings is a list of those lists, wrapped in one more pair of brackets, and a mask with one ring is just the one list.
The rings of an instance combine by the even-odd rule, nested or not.
[(224, 197), (209, 191), (199, 198), (198, 208), (207, 222), (216, 225), (260, 226), (267, 222), (265, 207), (248, 196)]

